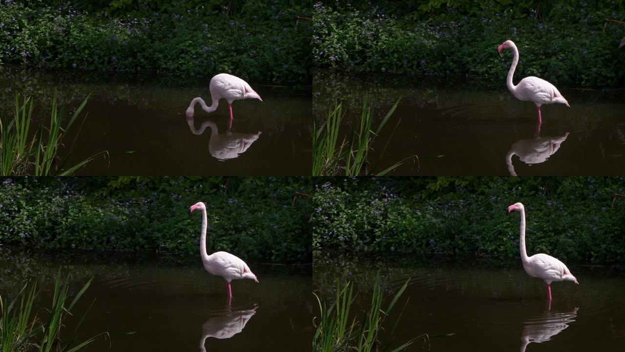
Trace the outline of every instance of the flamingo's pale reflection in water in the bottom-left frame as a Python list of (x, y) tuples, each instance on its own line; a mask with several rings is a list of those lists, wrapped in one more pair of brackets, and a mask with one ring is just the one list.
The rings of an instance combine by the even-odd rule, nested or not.
[(204, 344), (207, 338), (229, 339), (240, 333), (245, 328), (249, 319), (256, 314), (258, 304), (252, 309), (240, 309), (227, 307), (227, 311), (218, 316), (209, 318), (202, 325), (202, 338), (199, 340), (199, 349), (206, 352)]

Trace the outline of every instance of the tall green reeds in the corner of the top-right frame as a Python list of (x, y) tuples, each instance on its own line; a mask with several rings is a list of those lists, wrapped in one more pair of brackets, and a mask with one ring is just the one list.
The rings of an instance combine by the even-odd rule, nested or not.
[[(416, 160), (417, 156), (411, 155), (380, 172), (376, 171), (395, 130), (393, 130), (389, 140), (386, 141), (386, 145), (379, 153), (380, 157), (375, 162), (369, 160), (369, 151), (372, 150), (376, 137), (388, 122), (397, 105), (399, 105), (399, 100), (386, 113), (379, 125), (374, 128), (373, 120), (375, 118), (376, 104), (370, 102), (368, 96), (365, 95), (362, 100), (360, 117), (354, 127), (352, 127), (349, 138), (346, 136), (341, 142), (339, 142), (339, 130), (344, 118), (342, 103), (335, 102), (330, 106), (327, 119), (321, 125), (317, 126), (316, 120), (313, 119), (312, 175), (381, 176), (395, 170), (403, 163)], [(399, 122), (395, 125), (395, 129), (398, 125)]]

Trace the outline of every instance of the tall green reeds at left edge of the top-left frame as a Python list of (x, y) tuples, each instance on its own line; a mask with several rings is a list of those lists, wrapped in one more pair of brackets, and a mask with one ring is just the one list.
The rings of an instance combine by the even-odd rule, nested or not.
[[(74, 141), (69, 148), (68, 155), (59, 159), (57, 154), (63, 145), (63, 138), (68, 129), (76, 121), (76, 118), (83, 111), (89, 96), (78, 106), (73, 115), (69, 118), (67, 125), (62, 126), (65, 115), (65, 104), (61, 104), (61, 111), (57, 106), (57, 92), (54, 90), (54, 98), (51, 114), (47, 126), (44, 121), (39, 123), (39, 128), (29, 139), (31, 131), (33, 101), (30, 96), (20, 100), (19, 95), (15, 96), (15, 116), (12, 120), (5, 117), (0, 118), (0, 175), (26, 175), (46, 176), (58, 174), (61, 176), (71, 173), (83, 167), (100, 155), (108, 155), (107, 152), (99, 152), (92, 157), (83, 160), (73, 167), (64, 170), (72, 154), (76, 140), (80, 132), (76, 133)], [(82, 127), (82, 126), (81, 126)]]

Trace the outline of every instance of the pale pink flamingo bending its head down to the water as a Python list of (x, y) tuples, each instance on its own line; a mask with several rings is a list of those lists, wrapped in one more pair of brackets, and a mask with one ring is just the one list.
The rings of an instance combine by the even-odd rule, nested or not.
[(241, 100), (241, 99), (258, 99), (262, 101), (261, 96), (256, 93), (252, 89), (251, 86), (247, 84), (246, 81), (241, 80), (236, 76), (228, 75), (227, 73), (219, 73), (219, 75), (211, 78), (211, 83), (209, 85), (209, 90), (211, 91), (211, 100), (212, 105), (207, 106), (206, 102), (200, 98), (193, 98), (191, 100), (191, 104), (189, 104), (189, 108), (187, 108), (186, 115), (187, 117), (192, 117), (194, 113), (194, 106), (196, 103), (202, 106), (202, 109), (207, 113), (212, 113), (212, 111), (217, 110), (217, 106), (219, 106), (219, 100), (225, 99), (228, 102), (228, 108), (230, 109), (230, 123), (228, 129), (232, 128), (232, 101)]

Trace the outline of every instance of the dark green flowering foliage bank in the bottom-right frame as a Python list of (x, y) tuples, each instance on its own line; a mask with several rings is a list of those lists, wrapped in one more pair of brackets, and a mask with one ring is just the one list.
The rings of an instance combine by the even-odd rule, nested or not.
[(335, 179), (314, 194), (313, 245), (516, 259), (519, 217), (505, 210), (522, 202), (529, 255), (622, 262), (623, 190), (622, 177)]

